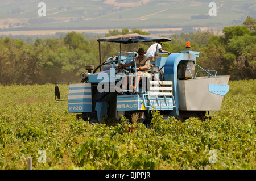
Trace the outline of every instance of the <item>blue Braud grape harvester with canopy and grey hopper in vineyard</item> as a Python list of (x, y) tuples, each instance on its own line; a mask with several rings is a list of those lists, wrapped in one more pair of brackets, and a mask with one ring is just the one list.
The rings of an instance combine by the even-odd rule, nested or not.
[[(80, 74), (81, 82), (68, 83), (68, 112), (91, 123), (101, 123), (103, 115), (114, 119), (125, 115), (131, 119), (133, 113), (138, 113), (139, 122), (148, 124), (152, 119), (151, 110), (179, 120), (189, 117), (204, 120), (207, 111), (220, 110), (222, 99), (229, 91), (229, 75), (217, 76), (215, 70), (201, 68), (196, 63), (199, 52), (190, 51), (189, 42), (186, 50), (179, 53), (156, 53), (155, 62), (150, 62), (151, 76), (141, 77), (139, 82), (135, 78), (138, 76), (136, 64), (135, 67), (118, 68), (119, 64), (134, 61), (137, 56), (135, 50), (121, 51), (122, 44), (167, 41), (171, 39), (139, 34), (98, 39), (100, 65), (96, 69), (93, 65), (86, 65), (87, 72)], [(101, 62), (102, 42), (119, 43), (118, 55)], [(115, 89), (127, 78), (131, 82), (134, 79), (138, 86), (135, 89)], [(55, 84), (55, 99), (61, 100), (58, 84)]]

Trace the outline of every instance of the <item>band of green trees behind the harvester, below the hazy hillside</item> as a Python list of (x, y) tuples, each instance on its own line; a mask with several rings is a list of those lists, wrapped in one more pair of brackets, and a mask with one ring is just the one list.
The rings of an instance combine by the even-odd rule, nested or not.
[[(140, 33), (139, 29), (109, 30), (105, 36)], [(85, 65), (99, 65), (99, 37), (86, 39), (75, 31), (59, 38), (36, 39), (26, 44), (22, 39), (0, 37), (0, 83), (2, 85), (56, 82), (80, 82)], [(191, 50), (199, 51), (197, 64), (216, 70), (217, 75), (230, 75), (231, 80), (256, 78), (256, 19), (247, 16), (241, 26), (224, 27), (222, 35), (213, 32), (181, 33), (172, 35), (171, 42), (163, 43), (163, 49), (172, 53), (185, 50), (185, 42), (191, 41)], [(152, 43), (122, 45), (122, 50), (147, 49)], [(102, 60), (117, 55), (118, 43), (102, 43)]]

